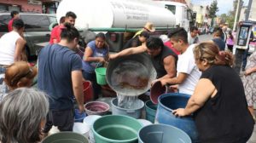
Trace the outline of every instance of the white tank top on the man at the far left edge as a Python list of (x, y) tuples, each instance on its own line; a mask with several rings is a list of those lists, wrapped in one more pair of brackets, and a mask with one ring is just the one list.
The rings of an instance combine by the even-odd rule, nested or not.
[(0, 38), (0, 65), (9, 66), (15, 62), (16, 41), (20, 34), (16, 31), (10, 31)]

